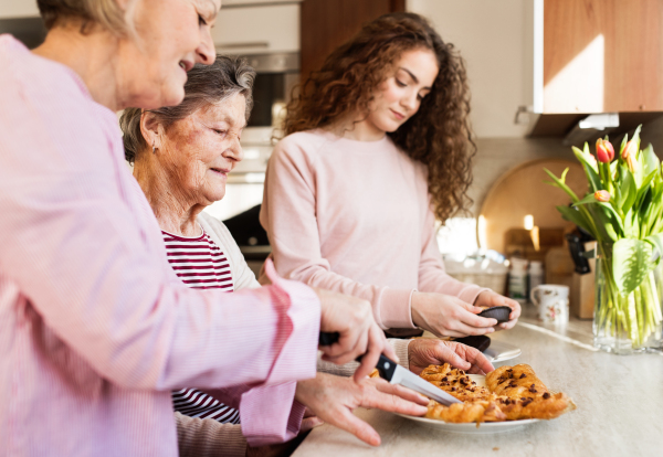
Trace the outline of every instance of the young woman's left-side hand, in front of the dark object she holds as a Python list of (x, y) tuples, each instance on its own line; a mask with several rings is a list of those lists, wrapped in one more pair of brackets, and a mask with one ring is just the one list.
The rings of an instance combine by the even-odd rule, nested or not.
[(412, 321), (438, 337), (494, 332), (497, 320), (476, 316), (481, 311), (481, 308), (450, 295), (412, 294)]

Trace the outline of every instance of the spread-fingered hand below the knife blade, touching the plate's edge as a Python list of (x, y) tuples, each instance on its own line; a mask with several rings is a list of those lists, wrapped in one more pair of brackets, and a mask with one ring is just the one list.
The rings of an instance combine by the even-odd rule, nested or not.
[(324, 422), (351, 433), (371, 446), (380, 444), (380, 435), (352, 414), (359, 406), (422, 416), (428, 398), (381, 379), (349, 378), (317, 373), (313, 380), (297, 382), (295, 398)]

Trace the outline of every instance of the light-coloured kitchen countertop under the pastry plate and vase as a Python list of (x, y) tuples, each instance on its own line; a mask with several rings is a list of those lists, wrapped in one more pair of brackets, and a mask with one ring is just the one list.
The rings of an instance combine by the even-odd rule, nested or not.
[(464, 435), (428, 428), (379, 410), (355, 414), (382, 437), (373, 448), (329, 425), (314, 428), (294, 457), (354, 456), (661, 456), (663, 455), (663, 357), (613, 355), (591, 346), (591, 321), (571, 318), (565, 329), (537, 322), (532, 306), (495, 341), (523, 353), (503, 364), (528, 363), (551, 390), (578, 406), (552, 421), (517, 431)]

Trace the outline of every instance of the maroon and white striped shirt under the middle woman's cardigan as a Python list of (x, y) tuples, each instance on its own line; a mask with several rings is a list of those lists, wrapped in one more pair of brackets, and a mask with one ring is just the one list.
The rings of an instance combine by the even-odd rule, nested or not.
[[(223, 251), (202, 230), (196, 237), (185, 237), (161, 231), (168, 263), (177, 276), (194, 289), (233, 291), (230, 264)], [(180, 414), (211, 418), (220, 423), (240, 423), (240, 412), (197, 389), (172, 391), (172, 406)]]

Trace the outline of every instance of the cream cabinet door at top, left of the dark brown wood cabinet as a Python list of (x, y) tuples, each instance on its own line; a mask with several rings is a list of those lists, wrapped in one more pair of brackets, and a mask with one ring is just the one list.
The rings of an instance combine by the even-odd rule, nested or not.
[(299, 51), (299, 4), (221, 8), (212, 38), (225, 54)]

